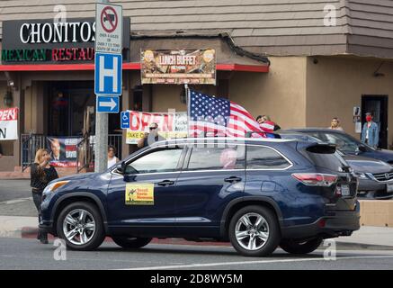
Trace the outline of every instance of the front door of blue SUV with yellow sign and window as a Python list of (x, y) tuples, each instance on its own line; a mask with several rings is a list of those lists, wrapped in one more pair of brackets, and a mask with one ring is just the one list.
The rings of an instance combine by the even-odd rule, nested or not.
[(176, 179), (183, 148), (152, 148), (127, 163), (124, 175), (113, 173), (108, 187), (112, 229), (174, 226)]

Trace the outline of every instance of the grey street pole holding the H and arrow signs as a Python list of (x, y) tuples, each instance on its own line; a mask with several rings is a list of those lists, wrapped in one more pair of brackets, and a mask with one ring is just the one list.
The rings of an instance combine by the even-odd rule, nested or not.
[[(109, 3), (98, 0), (98, 3)], [(94, 172), (102, 173), (108, 167), (108, 113), (95, 112)]]

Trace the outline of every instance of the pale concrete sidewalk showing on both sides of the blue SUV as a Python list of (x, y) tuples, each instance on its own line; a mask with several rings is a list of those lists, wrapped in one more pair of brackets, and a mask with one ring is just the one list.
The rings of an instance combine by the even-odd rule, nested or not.
[[(35, 238), (37, 236), (37, 217), (0, 216), (1, 238)], [(107, 240), (112, 240), (107, 238)], [(335, 238), (337, 248), (344, 249), (393, 249), (393, 228), (362, 226), (351, 237)], [(230, 246), (220, 242), (192, 242), (178, 238), (154, 239), (156, 244)]]

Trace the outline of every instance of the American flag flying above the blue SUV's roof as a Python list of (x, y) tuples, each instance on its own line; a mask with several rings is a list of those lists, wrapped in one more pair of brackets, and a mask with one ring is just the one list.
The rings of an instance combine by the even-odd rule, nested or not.
[[(253, 116), (237, 103), (195, 91), (190, 91), (189, 97), (190, 137), (201, 136), (203, 132), (228, 137), (245, 137), (248, 131), (263, 132)], [(264, 134), (252, 136), (266, 137)]]

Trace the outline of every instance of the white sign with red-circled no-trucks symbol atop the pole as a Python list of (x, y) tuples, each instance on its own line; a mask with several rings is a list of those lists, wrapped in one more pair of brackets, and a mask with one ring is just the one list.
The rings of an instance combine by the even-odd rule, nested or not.
[(95, 51), (121, 54), (122, 7), (113, 4), (96, 4)]

